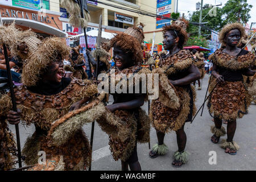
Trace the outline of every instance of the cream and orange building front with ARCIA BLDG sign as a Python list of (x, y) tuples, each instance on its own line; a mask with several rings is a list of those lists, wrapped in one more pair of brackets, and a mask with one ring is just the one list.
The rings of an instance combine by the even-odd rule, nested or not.
[[(144, 41), (150, 42), (155, 32), (155, 44), (162, 43), (162, 29), (156, 28), (159, 18), (138, 14), (155, 15), (159, 4), (169, 3), (168, 13), (175, 11), (175, 0), (101, 0), (87, 1), (91, 22), (87, 31), (98, 28), (99, 16), (102, 14), (102, 28), (106, 32), (119, 33), (127, 27), (145, 24)], [(164, 6), (163, 6), (164, 7)], [(163, 9), (163, 8), (162, 8)], [(62, 9), (59, 0), (0, 0), (0, 12), (4, 23), (15, 20), (23, 29), (32, 28), (43, 35), (73, 36), (79, 34), (79, 28), (68, 23), (68, 13)], [(159, 14), (159, 13), (158, 13)]]

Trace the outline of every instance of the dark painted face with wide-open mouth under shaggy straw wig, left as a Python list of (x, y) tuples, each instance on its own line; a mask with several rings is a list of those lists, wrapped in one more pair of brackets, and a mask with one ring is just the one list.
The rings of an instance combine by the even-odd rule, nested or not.
[(47, 82), (61, 82), (61, 78), (64, 75), (64, 64), (61, 56), (58, 56), (56, 61), (48, 65), (46, 73), (44, 73), (43, 80)]

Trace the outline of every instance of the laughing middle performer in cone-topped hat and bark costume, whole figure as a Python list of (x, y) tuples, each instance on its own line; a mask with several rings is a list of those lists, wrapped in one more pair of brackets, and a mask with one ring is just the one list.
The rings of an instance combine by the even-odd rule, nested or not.
[[(146, 112), (140, 108), (146, 100), (146, 93), (141, 92), (141, 88), (145, 85), (141, 81), (137, 82), (134, 81), (135, 79), (129, 78), (129, 73), (134, 77), (141, 73), (151, 73), (149, 69), (141, 67), (143, 61), (141, 43), (143, 39), (143, 24), (140, 24), (138, 27), (127, 28), (125, 32), (116, 35), (108, 43), (108, 48), (113, 47), (115, 67), (111, 69), (104, 80), (107, 81), (106, 84), (109, 89), (112, 87), (111, 82), (108, 82), (109, 80), (115, 83), (115, 89), (118, 85), (118, 88), (123, 89), (122, 92), (115, 90), (114, 93), (111, 93), (114, 102), (112, 105), (106, 106), (109, 114), (105, 118), (98, 119), (98, 123), (102, 130), (109, 134), (112, 156), (114, 160), (121, 159), (123, 171), (127, 171), (128, 166), (131, 171), (141, 171), (141, 164), (137, 155), (137, 142), (146, 143), (150, 137), (150, 119)], [(126, 78), (120, 79), (121, 73), (127, 76), (127, 80)], [(115, 76), (115, 79), (112, 76)], [(132, 93), (129, 92), (130, 89), (128, 91), (129, 84), (132, 86)], [(140, 89), (138, 90), (139, 93), (134, 92), (137, 86)]]

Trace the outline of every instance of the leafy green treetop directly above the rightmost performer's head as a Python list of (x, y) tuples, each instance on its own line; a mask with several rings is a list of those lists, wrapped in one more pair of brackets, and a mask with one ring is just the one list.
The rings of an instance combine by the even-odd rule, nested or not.
[(224, 24), (235, 22), (246, 24), (251, 18), (249, 12), (252, 7), (247, 0), (229, 0), (222, 8)]

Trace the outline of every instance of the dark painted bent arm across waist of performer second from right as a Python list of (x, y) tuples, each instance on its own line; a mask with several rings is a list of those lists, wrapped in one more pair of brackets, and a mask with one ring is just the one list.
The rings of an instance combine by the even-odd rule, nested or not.
[(188, 75), (179, 80), (169, 80), (169, 82), (174, 86), (183, 86), (191, 84), (193, 81), (200, 79), (200, 71), (195, 65), (191, 65), (188, 68)]

